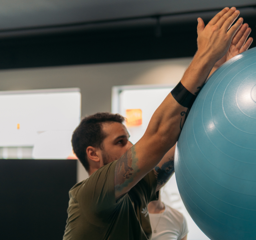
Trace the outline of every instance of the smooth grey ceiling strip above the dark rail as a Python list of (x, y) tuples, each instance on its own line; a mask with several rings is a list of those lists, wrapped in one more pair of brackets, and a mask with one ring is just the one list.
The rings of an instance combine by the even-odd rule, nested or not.
[(255, 0), (1, 0), (0, 31), (254, 6)]

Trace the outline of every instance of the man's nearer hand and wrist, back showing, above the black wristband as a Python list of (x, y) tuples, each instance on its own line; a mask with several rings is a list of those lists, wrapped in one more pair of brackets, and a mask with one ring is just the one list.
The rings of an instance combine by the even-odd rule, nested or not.
[[(237, 19), (239, 13), (235, 7), (231, 9), (228, 7), (224, 8), (206, 26), (202, 18), (198, 18), (198, 51), (181, 80), (183, 86), (191, 93), (196, 95), (198, 89), (205, 83), (207, 78), (205, 78), (205, 75), (209, 76), (214, 64), (227, 53), (232, 38), (243, 22), (243, 19), (239, 18), (230, 27)], [(198, 85), (195, 85), (195, 81), (192, 79), (197, 79)]]

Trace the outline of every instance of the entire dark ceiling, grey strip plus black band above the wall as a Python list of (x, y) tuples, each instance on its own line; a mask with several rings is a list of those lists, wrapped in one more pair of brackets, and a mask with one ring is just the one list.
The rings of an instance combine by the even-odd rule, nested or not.
[(231, 4), (256, 40), (255, 0), (2, 0), (0, 69), (193, 56), (196, 19)]

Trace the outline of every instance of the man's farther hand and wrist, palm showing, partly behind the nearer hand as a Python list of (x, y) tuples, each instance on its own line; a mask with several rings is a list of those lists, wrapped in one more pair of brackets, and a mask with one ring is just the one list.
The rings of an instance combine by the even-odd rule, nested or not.
[(251, 46), (253, 41), (252, 37), (250, 37), (246, 41), (250, 33), (251, 33), (251, 28), (248, 27), (248, 24), (247, 23), (242, 24), (241, 27), (236, 32), (235, 36), (233, 37), (227, 53), (219, 61), (215, 63), (210, 75), (229, 59), (248, 50), (248, 48)]

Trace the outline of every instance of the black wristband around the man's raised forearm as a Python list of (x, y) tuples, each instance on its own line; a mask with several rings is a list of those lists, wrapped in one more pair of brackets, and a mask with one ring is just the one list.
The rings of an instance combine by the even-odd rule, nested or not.
[(181, 82), (179, 82), (176, 87), (171, 91), (174, 99), (181, 104), (183, 107), (191, 108), (194, 101), (196, 100), (196, 95), (188, 91)]

